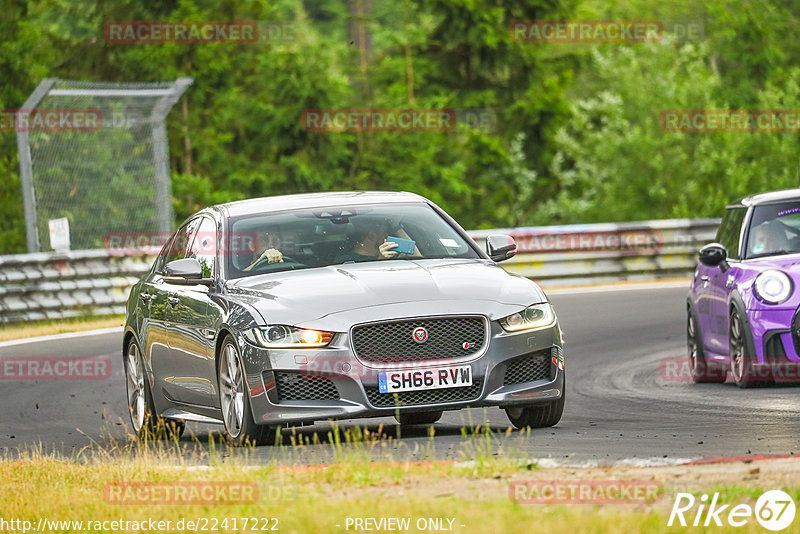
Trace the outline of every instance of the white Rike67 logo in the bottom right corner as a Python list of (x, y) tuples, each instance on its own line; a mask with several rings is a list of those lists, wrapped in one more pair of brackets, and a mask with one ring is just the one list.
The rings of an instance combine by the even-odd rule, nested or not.
[(763, 493), (755, 506), (719, 504), (718, 501), (719, 493), (710, 498), (706, 493), (699, 498), (691, 493), (678, 493), (667, 526), (743, 527), (755, 518), (763, 528), (779, 532), (792, 524), (796, 511), (792, 497), (781, 490)]

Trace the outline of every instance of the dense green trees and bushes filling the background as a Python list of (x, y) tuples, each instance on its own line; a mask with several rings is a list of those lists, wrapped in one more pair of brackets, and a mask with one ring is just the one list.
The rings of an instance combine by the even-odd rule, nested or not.
[[(800, 109), (788, 0), (6, 0), (0, 108), (42, 78), (195, 83), (169, 116), (176, 218), (222, 201), (410, 190), (465, 227), (716, 216), (798, 184), (796, 133), (668, 133), (665, 109)], [(656, 19), (702, 38), (533, 44), (515, 19)], [(257, 44), (117, 45), (124, 20), (258, 20)], [(305, 109), (484, 108), (489, 128), (318, 133)], [(16, 138), (0, 133), (0, 253), (25, 250)], [(100, 221), (102, 223), (102, 221)]]

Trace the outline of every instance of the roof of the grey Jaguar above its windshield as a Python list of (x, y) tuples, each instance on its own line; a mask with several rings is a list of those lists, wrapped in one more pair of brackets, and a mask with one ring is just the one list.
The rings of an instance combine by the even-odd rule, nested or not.
[(406, 191), (333, 191), (327, 193), (302, 193), (274, 197), (251, 198), (217, 204), (212, 209), (231, 217), (282, 211), (288, 209), (313, 209), (337, 205), (359, 206), (366, 204), (390, 204), (401, 202), (427, 202), (417, 194)]

